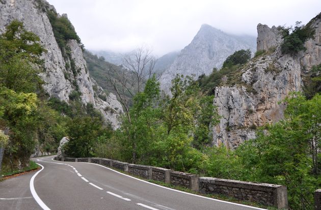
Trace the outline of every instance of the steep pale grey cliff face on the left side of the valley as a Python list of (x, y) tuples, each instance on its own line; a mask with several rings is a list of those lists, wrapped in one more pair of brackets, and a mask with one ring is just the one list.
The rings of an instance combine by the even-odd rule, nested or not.
[[(117, 117), (122, 113), (120, 103), (114, 95), (107, 97), (106, 101), (96, 97), (81, 43), (73, 39), (67, 40), (66, 48), (70, 53), (66, 57), (56, 41), (48, 11), (56, 13), (55, 8), (44, 0), (2, 0), (0, 1), (0, 33), (4, 32), (6, 25), (12, 20), (22, 21), (25, 29), (38, 35), (41, 44), (47, 49), (42, 56), (45, 71), (41, 73), (41, 78), (45, 82), (43, 88), (50, 97), (68, 102), (69, 95), (77, 91), (84, 105), (92, 103), (103, 114), (105, 120), (112, 124), (112, 127), (118, 127)], [(71, 64), (73, 69), (68, 67)]]

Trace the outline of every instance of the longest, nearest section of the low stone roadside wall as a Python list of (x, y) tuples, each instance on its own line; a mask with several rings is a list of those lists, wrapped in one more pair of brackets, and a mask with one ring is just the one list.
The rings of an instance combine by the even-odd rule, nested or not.
[(287, 208), (287, 190), (281, 185), (201, 177), (199, 187), (200, 192), (204, 194), (221, 194), (239, 200), (256, 201), (277, 208)]

